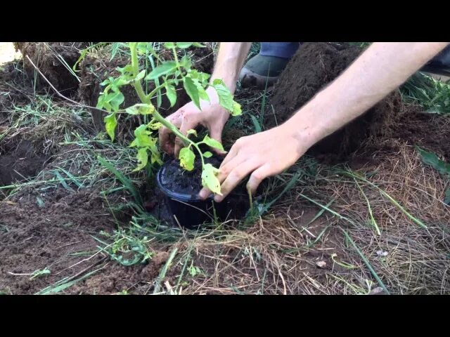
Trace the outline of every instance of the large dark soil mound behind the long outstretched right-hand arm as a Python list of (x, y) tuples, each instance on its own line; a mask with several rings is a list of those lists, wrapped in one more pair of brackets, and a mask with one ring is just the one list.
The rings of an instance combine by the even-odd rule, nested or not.
[[(266, 128), (283, 123), (306, 104), (323, 87), (338, 77), (361, 53), (349, 44), (306, 43), (300, 46), (293, 59), (281, 74), (271, 104), (276, 112), (266, 114)], [(328, 161), (345, 159), (369, 136), (380, 136), (391, 128), (403, 112), (397, 93), (389, 95), (358, 119), (324, 138), (311, 148), (314, 155), (326, 154)]]

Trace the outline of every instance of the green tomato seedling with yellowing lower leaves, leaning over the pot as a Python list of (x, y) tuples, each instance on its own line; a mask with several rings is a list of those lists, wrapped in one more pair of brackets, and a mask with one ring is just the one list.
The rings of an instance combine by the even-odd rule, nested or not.
[[(149, 123), (141, 124), (134, 130), (135, 138), (129, 145), (137, 149), (136, 159), (138, 160), (138, 166), (134, 171), (139, 171), (146, 167), (149, 158), (150, 164), (162, 164), (156, 132), (161, 126), (165, 126), (184, 143), (184, 148), (179, 153), (181, 167), (187, 171), (192, 171), (194, 168), (195, 152), (197, 152), (202, 162), (202, 185), (208, 187), (214, 193), (221, 194), (220, 183), (217, 178), (219, 170), (212, 166), (212, 164), (205, 164), (204, 160), (204, 158), (211, 157), (212, 153), (209, 151), (202, 152), (200, 150), (200, 145), (202, 144), (224, 150), (221, 143), (209, 136), (205, 136), (202, 141), (195, 143), (189, 139), (191, 134), (196, 136), (195, 130), (189, 130), (185, 136), (176, 126), (162, 117), (158, 109), (152, 104), (152, 99), (161, 90), (165, 90), (170, 106), (173, 107), (176, 103), (175, 87), (182, 83), (184, 90), (200, 110), (200, 100), (210, 101), (205, 91), (207, 86), (212, 86), (217, 91), (219, 104), (228, 110), (231, 115), (237, 116), (241, 113), (240, 105), (233, 100), (233, 95), (226, 88), (224, 81), (214, 79), (210, 83), (208, 81), (210, 74), (192, 69), (192, 61), (189, 55), (186, 54), (179, 60), (178, 51), (180, 49), (190, 48), (191, 46), (203, 48), (203, 45), (197, 42), (165, 42), (163, 46), (172, 51), (173, 60), (162, 61), (158, 53), (154, 50), (153, 44), (150, 42), (129, 42), (128, 47), (131, 63), (123, 68), (117, 68), (120, 72), (119, 77), (109, 77), (103, 81), (101, 84), (104, 87), (103, 92), (101, 92), (98, 98), (96, 107), (110, 112), (104, 121), (106, 132), (112, 140), (115, 138), (115, 129), (119, 114), (126, 113), (151, 117)], [(150, 53), (150, 58), (156, 58), (160, 61), (158, 66), (154, 67), (150, 72), (147, 69), (141, 70), (139, 67), (139, 55), (148, 55), (148, 53)], [(155, 84), (155, 88), (150, 93), (146, 93), (143, 90), (143, 81), (152, 81)], [(124, 95), (120, 91), (122, 86), (133, 86), (141, 103), (121, 110), (120, 106), (124, 103)]]

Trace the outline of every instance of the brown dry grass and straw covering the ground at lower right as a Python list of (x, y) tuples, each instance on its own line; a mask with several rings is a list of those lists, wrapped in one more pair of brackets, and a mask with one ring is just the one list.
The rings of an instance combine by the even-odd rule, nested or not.
[[(193, 262), (188, 263), (205, 275), (191, 278), (183, 293), (369, 293), (377, 281), (342, 230), (390, 293), (450, 293), (450, 213), (442, 202), (448, 182), (423, 166), (406, 145), (394, 156), (378, 154), (378, 164), (359, 172), (376, 172), (371, 183), (428, 229), (413, 223), (376, 188), (360, 182), (363, 194), (354, 180), (323, 166), (314, 180), (297, 185), (250, 229), (232, 230), (221, 239), (188, 240), (186, 247), (193, 246)], [(330, 209), (352, 223), (328, 211), (309, 223), (320, 207), (300, 193), (323, 205), (334, 199)], [(369, 220), (367, 200), (380, 235)], [(180, 256), (183, 263), (186, 254)], [(180, 270), (181, 265), (172, 276)]]

